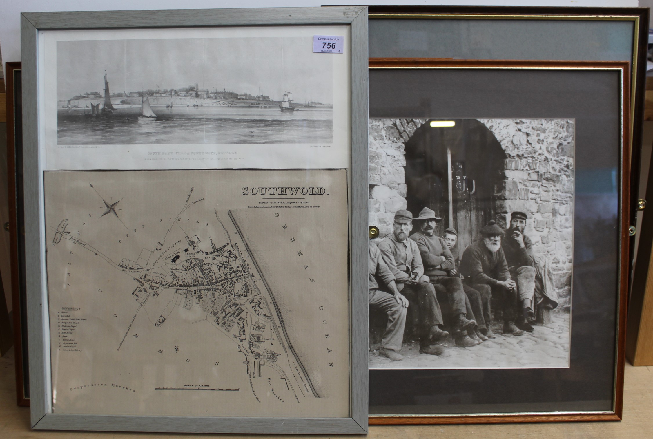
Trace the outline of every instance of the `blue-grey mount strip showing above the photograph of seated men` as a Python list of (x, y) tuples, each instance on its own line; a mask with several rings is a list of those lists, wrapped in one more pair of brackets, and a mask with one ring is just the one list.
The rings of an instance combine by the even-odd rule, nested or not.
[(630, 61), (634, 31), (630, 21), (373, 18), (370, 57)]

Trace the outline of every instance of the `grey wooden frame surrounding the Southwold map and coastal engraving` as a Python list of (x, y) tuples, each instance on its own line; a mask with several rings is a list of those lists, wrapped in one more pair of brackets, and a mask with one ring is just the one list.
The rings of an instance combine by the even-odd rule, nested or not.
[[(39, 159), (37, 37), (52, 29), (135, 29), (257, 25), (351, 26), (350, 368), (348, 417), (206, 417), (57, 414), (52, 411), (50, 327)], [(54, 430), (266, 434), (368, 431), (368, 8), (236, 8), (102, 12), (24, 12), (21, 16), (25, 172), (25, 266), (29, 316), (31, 427)]]

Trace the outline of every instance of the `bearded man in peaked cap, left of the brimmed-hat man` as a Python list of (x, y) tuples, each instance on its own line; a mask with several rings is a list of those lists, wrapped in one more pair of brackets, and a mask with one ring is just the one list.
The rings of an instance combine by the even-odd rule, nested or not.
[(412, 229), (413, 214), (407, 210), (397, 211), (392, 234), (383, 239), (378, 247), (383, 262), (394, 275), (397, 289), (408, 299), (409, 308), (417, 310), (420, 354), (440, 355), (444, 348), (437, 342), (447, 338), (449, 333), (442, 330), (442, 312), (436, 290), (424, 276), (417, 244), (408, 239)]

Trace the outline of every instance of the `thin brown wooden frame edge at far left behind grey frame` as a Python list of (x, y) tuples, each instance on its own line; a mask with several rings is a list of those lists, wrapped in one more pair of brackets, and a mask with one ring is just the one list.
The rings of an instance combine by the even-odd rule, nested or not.
[(20, 62), (5, 63), (5, 81), (7, 84), (7, 176), (9, 194), (9, 249), (11, 252), (11, 297), (14, 304), (14, 365), (16, 367), (16, 404), (29, 407), (29, 398), (25, 397), (23, 374), (23, 339), (20, 307), (20, 272), (18, 268), (18, 212), (16, 206), (16, 138), (14, 121), (14, 70), (21, 70)]

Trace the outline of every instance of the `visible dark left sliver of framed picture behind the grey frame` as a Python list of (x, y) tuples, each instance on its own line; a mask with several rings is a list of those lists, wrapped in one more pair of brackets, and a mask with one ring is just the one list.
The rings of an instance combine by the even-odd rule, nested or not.
[(29, 407), (29, 368), (27, 367), (27, 322), (25, 308), (24, 220), (22, 196), (22, 105), (20, 63), (7, 68), (7, 168), (9, 177), (9, 233), (11, 246), (11, 286), (14, 303), (14, 361), (16, 363), (16, 402)]

